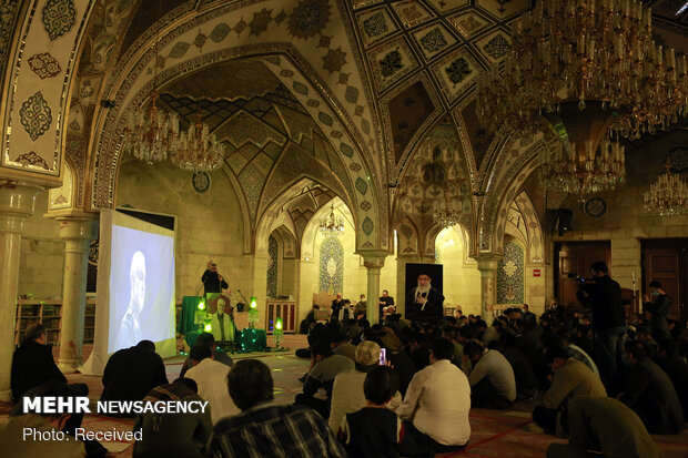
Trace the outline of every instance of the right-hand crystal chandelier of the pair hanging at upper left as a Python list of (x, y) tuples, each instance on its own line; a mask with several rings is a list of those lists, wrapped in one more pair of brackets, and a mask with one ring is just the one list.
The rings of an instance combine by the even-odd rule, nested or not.
[(192, 172), (209, 172), (222, 165), (224, 145), (217, 142), (214, 133), (210, 133), (208, 124), (196, 122), (191, 124), (188, 132), (182, 132), (179, 144), (171, 154), (172, 162), (180, 169)]

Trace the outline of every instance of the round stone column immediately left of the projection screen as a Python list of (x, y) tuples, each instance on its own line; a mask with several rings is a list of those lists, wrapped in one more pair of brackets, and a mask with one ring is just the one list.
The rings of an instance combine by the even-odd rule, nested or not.
[[(98, 215), (94, 215), (95, 217)], [(58, 367), (64, 374), (77, 372), (83, 364), (83, 320), (89, 271), (89, 248), (97, 238), (94, 217), (58, 217), (60, 238), (64, 241), (64, 279)]]

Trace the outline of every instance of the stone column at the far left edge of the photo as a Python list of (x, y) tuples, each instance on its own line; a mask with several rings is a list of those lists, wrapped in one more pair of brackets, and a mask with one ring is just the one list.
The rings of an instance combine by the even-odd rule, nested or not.
[(10, 400), (19, 253), (24, 220), (33, 214), (37, 186), (0, 181), (0, 400)]

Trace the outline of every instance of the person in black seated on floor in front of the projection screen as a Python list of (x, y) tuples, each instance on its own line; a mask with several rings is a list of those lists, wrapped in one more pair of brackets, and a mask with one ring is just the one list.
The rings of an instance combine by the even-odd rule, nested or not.
[(166, 384), (168, 375), (155, 344), (141, 340), (108, 359), (102, 381), (100, 400), (141, 400), (154, 387)]

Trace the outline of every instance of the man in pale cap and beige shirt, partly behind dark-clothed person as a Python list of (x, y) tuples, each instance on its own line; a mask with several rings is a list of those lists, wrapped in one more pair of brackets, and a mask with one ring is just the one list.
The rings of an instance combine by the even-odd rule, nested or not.
[[(332, 388), (332, 407), (330, 411), (330, 429), (336, 432), (340, 429), (342, 419), (346, 414), (357, 411), (365, 407), (365, 394), (363, 384), (365, 376), (380, 365), (380, 345), (372, 340), (363, 340), (356, 346), (356, 367), (337, 374), (334, 378)], [(402, 403), (402, 395), (396, 391), (394, 399), (389, 403), (392, 408), (396, 408)]]

